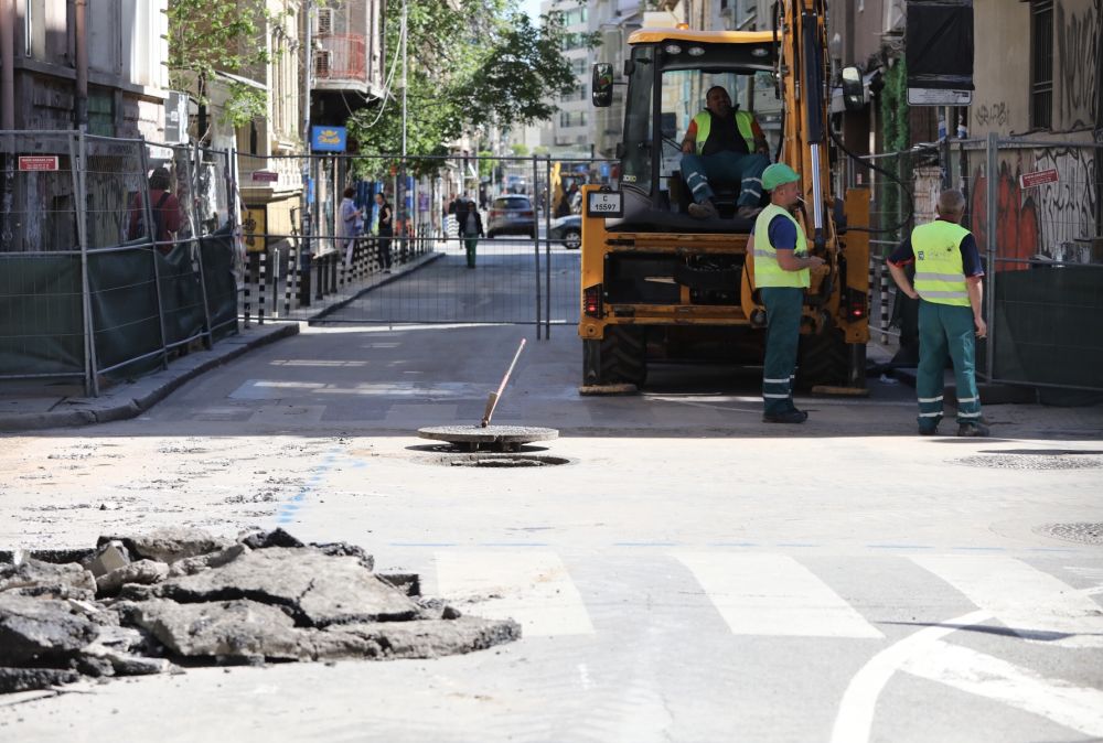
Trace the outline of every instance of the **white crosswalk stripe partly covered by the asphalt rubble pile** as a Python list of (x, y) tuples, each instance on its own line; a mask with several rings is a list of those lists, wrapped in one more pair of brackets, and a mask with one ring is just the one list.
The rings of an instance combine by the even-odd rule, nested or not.
[(459, 606), (467, 614), (516, 620), (525, 637), (593, 634), (582, 596), (555, 552), (448, 550), (436, 561), (437, 590), (470, 602)]

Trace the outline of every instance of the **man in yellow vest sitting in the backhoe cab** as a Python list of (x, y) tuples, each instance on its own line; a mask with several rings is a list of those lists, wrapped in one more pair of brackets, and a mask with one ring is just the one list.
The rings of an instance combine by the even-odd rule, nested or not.
[(719, 85), (705, 94), (705, 110), (693, 117), (682, 140), (682, 176), (698, 219), (718, 216), (711, 184), (739, 185), (736, 216), (752, 219), (761, 211), (762, 171), (770, 164), (762, 128), (750, 111), (731, 105)]

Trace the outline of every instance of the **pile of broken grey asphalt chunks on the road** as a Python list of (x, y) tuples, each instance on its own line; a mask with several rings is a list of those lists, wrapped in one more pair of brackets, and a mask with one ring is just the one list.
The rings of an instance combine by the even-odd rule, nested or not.
[(373, 570), (358, 547), (282, 529), (0, 552), (0, 693), (182, 665), (435, 658), (521, 636), (421, 596), (415, 574)]

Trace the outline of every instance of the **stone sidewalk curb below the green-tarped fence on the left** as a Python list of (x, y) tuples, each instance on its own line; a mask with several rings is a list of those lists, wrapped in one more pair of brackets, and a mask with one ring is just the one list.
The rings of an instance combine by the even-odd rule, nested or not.
[(223, 338), (211, 351), (185, 356), (168, 369), (141, 377), (132, 384), (118, 385), (98, 398), (63, 399), (56, 406), (58, 409), (45, 412), (0, 413), (0, 431), (41, 431), (136, 418), (200, 375), (228, 364), (249, 351), (298, 334), (297, 322), (271, 326), (253, 325), (239, 330), (237, 335)]

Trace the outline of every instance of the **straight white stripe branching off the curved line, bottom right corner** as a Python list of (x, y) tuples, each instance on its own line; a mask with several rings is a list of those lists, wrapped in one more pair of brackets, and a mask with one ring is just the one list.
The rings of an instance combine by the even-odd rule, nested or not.
[(1091, 737), (1103, 737), (1103, 691), (1045, 678), (1027, 668), (942, 640), (928, 643), (902, 668), (1020, 710)]

